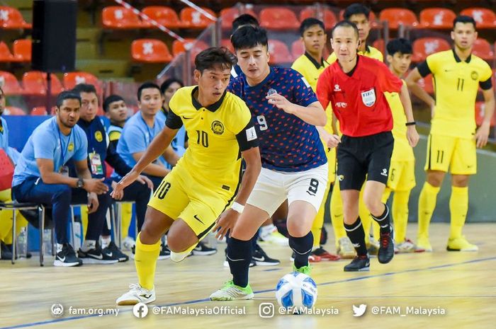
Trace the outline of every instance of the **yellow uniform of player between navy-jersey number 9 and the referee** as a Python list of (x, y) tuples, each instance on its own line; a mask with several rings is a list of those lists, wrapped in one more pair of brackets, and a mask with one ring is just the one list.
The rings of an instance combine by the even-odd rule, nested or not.
[[(322, 62), (317, 62), (313, 57), (310, 56), (307, 52), (305, 54), (298, 57), (291, 69), (298, 71), (306, 81), (312, 87), (312, 91), (317, 91), (317, 81), (319, 79), (320, 74), (324, 71), (326, 67), (329, 66), (329, 63), (322, 59)], [(327, 124), (324, 129), (329, 134), (333, 134), (332, 132), (332, 108), (326, 109), (325, 111), (327, 115)], [(324, 198), (322, 199), (322, 204), (320, 205), (320, 209), (315, 215), (315, 219), (312, 224), (312, 234), (313, 234), (313, 244), (314, 246), (320, 246), (320, 236), (322, 233), (322, 225), (324, 224), (324, 215), (325, 215), (325, 202), (327, 202), (327, 195), (329, 194), (329, 190), (331, 188), (331, 184), (334, 183), (336, 179), (336, 149), (329, 149), (327, 144), (322, 141), (324, 144), (325, 153), (327, 155), (327, 166), (329, 167), (329, 179), (327, 180), (327, 188), (325, 190)]]

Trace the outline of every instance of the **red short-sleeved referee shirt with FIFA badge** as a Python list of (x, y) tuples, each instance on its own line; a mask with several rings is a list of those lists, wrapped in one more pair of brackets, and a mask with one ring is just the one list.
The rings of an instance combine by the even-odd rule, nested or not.
[(348, 76), (334, 62), (320, 74), (317, 98), (324, 108), (331, 103), (341, 132), (362, 137), (393, 129), (393, 115), (384, 92), (399, 93), (402, 81), (383, 62), (358, 55)]

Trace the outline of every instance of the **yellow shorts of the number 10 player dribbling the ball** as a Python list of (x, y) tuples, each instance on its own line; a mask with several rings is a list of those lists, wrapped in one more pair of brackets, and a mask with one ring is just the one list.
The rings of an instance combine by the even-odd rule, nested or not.
[(234, 200), (233, 195), (228, 197), (224, 192), (198, 182), (176, 166), (164, 177), (148, 205), (171, 219), (183, 219), (201, 240)]

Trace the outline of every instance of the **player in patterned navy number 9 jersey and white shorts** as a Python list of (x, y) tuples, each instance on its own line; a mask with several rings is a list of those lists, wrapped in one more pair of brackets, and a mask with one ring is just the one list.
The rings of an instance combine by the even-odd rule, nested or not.
[[(262, 169), (241, 216), (214, 227), (223, 236), (231, 229), (227, 260), (232, 280), (210, 295), (212, 301), (252, 299), (248, 284), (250, 242), (259, 226), (288, 200), (289, 245), (295, 252), (294, 270), (308, 274), (312, 251), (310, 231), (327, 184), (327, 158), (315, 126), (327, 117), (307, 81), (293, 69), (269, 67), (266, 30), (244, 26), (231, 37), (242, 74), (227, 88), (244, 100), (259, 137)], [(330, 136), (333, 146), (338, 137)]]

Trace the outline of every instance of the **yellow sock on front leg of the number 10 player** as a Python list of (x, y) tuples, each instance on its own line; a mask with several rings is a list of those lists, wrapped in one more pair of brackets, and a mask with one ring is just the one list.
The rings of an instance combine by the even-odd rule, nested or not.
[(155, 267), (160, 253), (160, 240), (152, 245), (145, 245), (140, 241), (140, 234), (136, 237), (135, 266), (138, 283), (145, 289), (153, 289)]

